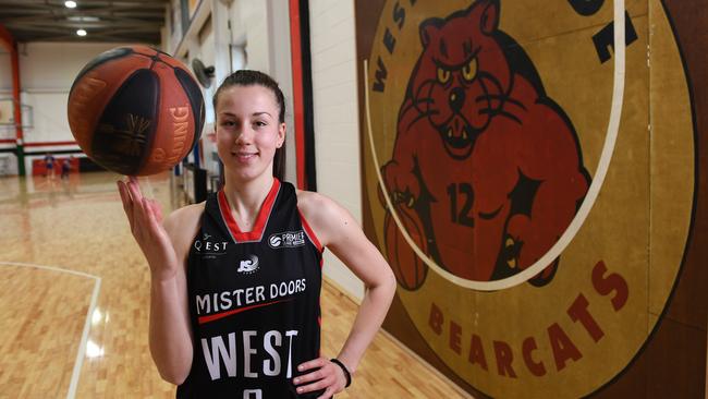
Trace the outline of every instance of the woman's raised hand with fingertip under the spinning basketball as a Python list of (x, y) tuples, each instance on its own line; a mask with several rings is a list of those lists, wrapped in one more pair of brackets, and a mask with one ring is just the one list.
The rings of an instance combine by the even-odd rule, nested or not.
[(150, 266), (152, 278), (167, 280), (175, 276), (178, 256), (172, 241), (162, 227), (162, 209), (155, 200), (143, 196), (137, 178), (127, 183), (118, 181), (123, 210), (131, 225), (131, 232)]

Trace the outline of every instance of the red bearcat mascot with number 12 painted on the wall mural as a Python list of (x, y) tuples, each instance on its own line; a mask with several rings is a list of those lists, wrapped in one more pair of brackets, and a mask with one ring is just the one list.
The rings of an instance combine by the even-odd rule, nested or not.
[[(542, 256), (589, 185), (573, 123), (544, 90), (524, 49), (499, 29), (499, 2), (474, 2), (419, 25), (383, 179), (418, 246), (450, 273), (508, 277)], [(425, 266), (388, 214), (386, 246), (399, 283)], [(529, 280), (548, 283), (559, 259)]]

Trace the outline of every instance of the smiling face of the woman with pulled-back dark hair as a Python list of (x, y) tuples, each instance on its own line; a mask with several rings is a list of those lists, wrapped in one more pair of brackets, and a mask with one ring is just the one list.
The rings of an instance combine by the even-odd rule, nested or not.
[(272, 176), (276, 149), (285, 140), (276, 95), (260, 85), (231, 86), (217, 101), (217, 149), (230, 177)]

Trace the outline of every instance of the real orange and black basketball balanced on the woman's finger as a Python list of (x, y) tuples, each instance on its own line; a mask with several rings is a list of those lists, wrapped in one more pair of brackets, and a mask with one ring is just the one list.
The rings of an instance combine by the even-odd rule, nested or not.
[(168, 170), (202, 133), (204, 98), (186, 66), (146, 46), (91, 60), (69, 94), (69, 125), (95, 162), (127, 176)]

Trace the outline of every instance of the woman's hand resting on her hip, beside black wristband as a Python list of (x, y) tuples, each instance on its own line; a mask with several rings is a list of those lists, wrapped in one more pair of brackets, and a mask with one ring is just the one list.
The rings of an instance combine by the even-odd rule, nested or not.
[(332, 395), (344, 390), (346, 385), (344, 371), (324, 356), (302, 363), (297, 366), (297, 371), (301, 373), (310, 371), (293, 378), (293, 384), (297, 387), (297, 394), (325, 389), (325, 394), (317, 399), (328, 399)]

